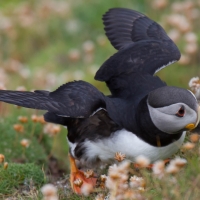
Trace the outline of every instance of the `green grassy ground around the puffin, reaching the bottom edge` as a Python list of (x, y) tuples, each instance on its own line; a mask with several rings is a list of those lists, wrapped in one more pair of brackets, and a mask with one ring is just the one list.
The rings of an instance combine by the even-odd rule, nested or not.
[[(109, 94), (104, 83), (93, 79), (96, 70), (115, 52), (104, 35), (101, 17), (109, 8), (127, 7), (148, 14), (171, 33), (184, 59), (158, 75), (169, 85), (187, 88), (190, 78), (200, 72), (200, 5), (195, 1), (182, 1), (178, 6), (174, 1), (160, 2), (164, 3), (150, 0), (1, 0), (0, 87), (53, 90), (68, 81), (82, 79)], [(170, 19), (178, 14), (186, 18), (183, 24), (189, 24), (184, 30)], [(172, 30), (176, 30), (178, 36)], [(197, 40), (188, 39), (188, 33), (195, 34)], [(41, 199), (39, 188), (52, 182), (59, 188), (60, 199), (94, 199), (97, 193), (78, 197), (69, 188), (65, 129), (44, 124), (39, 117), (43, 113), (39, 111), (0, 103), (0, 113), (0, 154), (8, 162), (7, 169), (3, 165), (0, 168), (0, 198)], [(19, 116), (27, 117), (28, 121), (20, 120)], [(14, 127), (16, 124), (18, 126)], [(28, 141), (27, 146), (23, 145), (23, 139)], [(179, 154), (188, 164), (174, 176), (167, 175), (159, 180), (148, 170), (132, 171), (146, 181), (142, 197), (199, 199), (199, 143), (194, 149)], [(13, 170), (19, 179), (9, 178)], [(37, 179), (38, 174), (41, 179)]]

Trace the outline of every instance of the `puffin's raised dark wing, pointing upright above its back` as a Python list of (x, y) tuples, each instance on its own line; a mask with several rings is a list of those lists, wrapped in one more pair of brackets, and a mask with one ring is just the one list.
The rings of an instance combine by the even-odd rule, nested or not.
[[(110, 9), (104, 16), (105, 31), (119, 50), (106, 60), (95, 79), (110, 82), (135, 72), (155, 74), (180, 59), (180, 52), (164, 29), (147, 16), (130, 9)], [(109, 87), (112, 90), (111, 87)]]

